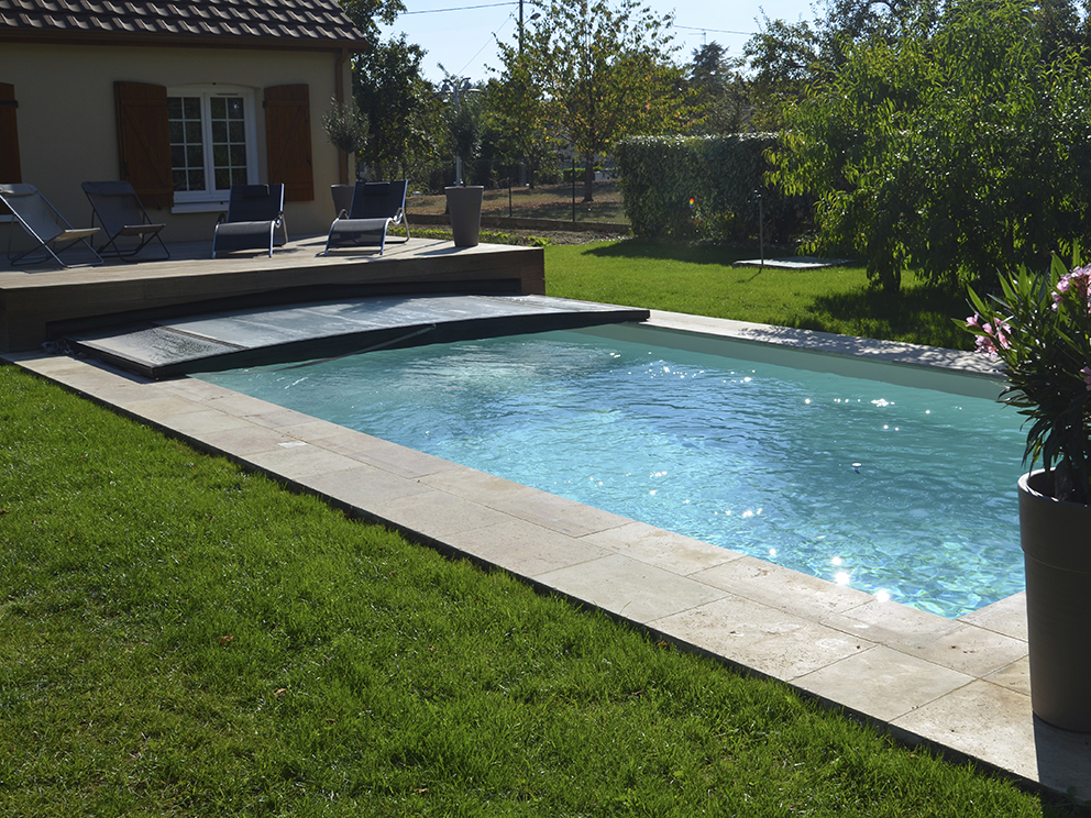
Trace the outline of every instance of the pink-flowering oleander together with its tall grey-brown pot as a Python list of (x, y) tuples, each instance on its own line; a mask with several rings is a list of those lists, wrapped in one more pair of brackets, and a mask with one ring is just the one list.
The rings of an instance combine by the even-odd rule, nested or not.
[[(1003, 362), (1004, 402), (1025, 416), (1020, 539), (1031, 699), (1056, 727), (1091, 732), (1091, 266), (1001, 277), (966, 328)], [(1040, 466), (1036, 468), (1036, 466)]]

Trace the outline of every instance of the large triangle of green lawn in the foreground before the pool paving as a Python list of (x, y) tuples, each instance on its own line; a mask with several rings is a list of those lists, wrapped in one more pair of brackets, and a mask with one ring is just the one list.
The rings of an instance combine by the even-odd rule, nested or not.
[(0, 815), (1042, 816), (0, 367)]

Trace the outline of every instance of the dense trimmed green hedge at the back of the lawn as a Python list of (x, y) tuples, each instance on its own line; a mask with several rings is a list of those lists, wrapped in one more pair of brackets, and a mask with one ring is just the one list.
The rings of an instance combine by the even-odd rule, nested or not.
[(758, 235), (762, 197), (765, 241), (786, 243), (809, 219), (809, 206), (769, 186), (765, 152), (775, 134), (632, 136), (613, 157), (625, 213), (643, 239), (709, 241)]

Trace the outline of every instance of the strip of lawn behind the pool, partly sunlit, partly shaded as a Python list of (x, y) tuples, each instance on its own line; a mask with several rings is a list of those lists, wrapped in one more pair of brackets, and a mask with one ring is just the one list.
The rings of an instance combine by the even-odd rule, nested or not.
[[(790, 255), (784, 253), (782, 255)], [(952, 318), (971, 312), (965, 295), (926, 286), (908, 273), (902, 292), (869, 286), (863, 267), (734, 267), (753, 247), (639, 241), (546, 248), (551, 296), (823, 330), (846, 335), (972, 349)]]

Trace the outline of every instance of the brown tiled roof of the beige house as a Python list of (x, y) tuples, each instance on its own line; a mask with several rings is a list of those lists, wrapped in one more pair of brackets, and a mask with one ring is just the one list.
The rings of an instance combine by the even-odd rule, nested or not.
[(282, 47), (364, 44), (334, 0), (0, 0), (0, 36), (195, 44), (214, 38), (224, 45)]

